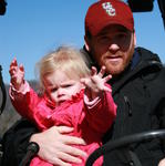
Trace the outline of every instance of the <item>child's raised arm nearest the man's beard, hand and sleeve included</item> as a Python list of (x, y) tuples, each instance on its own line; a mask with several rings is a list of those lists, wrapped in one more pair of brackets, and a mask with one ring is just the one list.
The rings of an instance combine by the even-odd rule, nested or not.
[(86, 86), (84, 94), (84, 103), (86, 107), (86, 120), (91, 127), (96, 132), (104, 134), (116, 116), (116, 105), (111, 95), (111, 86), (106, 82), (112, 77), (104, 77), (105, 66), (102, 66), (97, 73), (92, 68), (91, 77), (83, 79), (82, 82)]

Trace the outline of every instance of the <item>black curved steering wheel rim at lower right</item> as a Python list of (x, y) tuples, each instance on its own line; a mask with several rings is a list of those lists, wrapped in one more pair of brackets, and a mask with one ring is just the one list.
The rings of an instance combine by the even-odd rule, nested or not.
[(87, 158), (85, 166), (92, 166), (92, 164), (102, 155), (121, 147), (125, 147), (127, 145), (146, 142), (154, 138), (165, 138), (165, 129), (154, 129), (149, 132), (143, 132), (138, 134), (133, 134), (128, 136), (123, 136), (115, 141), (110, 141), (103, 146), (99, 147), (94, 151)]

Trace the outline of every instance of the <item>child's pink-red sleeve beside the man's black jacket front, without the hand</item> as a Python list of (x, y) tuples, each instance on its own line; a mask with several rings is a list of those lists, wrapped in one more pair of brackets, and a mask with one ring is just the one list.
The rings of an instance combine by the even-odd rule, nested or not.
[(90, 126), (96, 132), (104, 134), (111, 127), (116, 116), (116, 104), (113, 101), (112, 94), (104, 92), (96, 104), (90, 106), (90, 108), (87, 105), (85, 105), (85, 118)]

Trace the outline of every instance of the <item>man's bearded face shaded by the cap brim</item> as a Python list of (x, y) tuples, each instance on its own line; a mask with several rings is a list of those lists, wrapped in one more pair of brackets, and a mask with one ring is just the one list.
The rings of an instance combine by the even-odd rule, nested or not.
[(99, 66), (105, 65), (106, 72), (118, 75), (128, 65), (136, 43), (135, 33), (121, 25), (109, 25), (97, 35), (86, 39), (86, 49)]

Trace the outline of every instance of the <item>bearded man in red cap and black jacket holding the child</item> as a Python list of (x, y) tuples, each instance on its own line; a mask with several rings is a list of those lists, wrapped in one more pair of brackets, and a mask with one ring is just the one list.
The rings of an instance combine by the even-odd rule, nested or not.
[[(103, 143), (125, 135), (164, 128), (165, 69), (156, 54), (143, 48), (135, 49), (136, 35), (131, 9), (120, 0), (101, 0), (92, 4), (85, 17), (84, 39), (87, 62), (97, 68), (104, 64), (106, 73), (113, 75), (110, 84), (117, 105), (117, 116)], [(21, 121), (3, 137), (3, 162), (10, 165), (7, 158), (11, 157), (11, 160), (18, 159), (19, 163), (28, 143), (37, 142), (41, 158), (61, 166), (69, 166), (68, 162), (79, 163), (76, 156), (82, 156), (83, 152), (78, 152), (71, 145), (84, 142), (63, 135), (71, 129), (54, 126), (37, 133), (29, 122)], [(156, 166), (164, 157), (163, 147), (163, 142), (155, 139), (113, 151), (104, 156), (104, 165), (127, 166), (134, 165), (136, 160), (138, 165)]]

